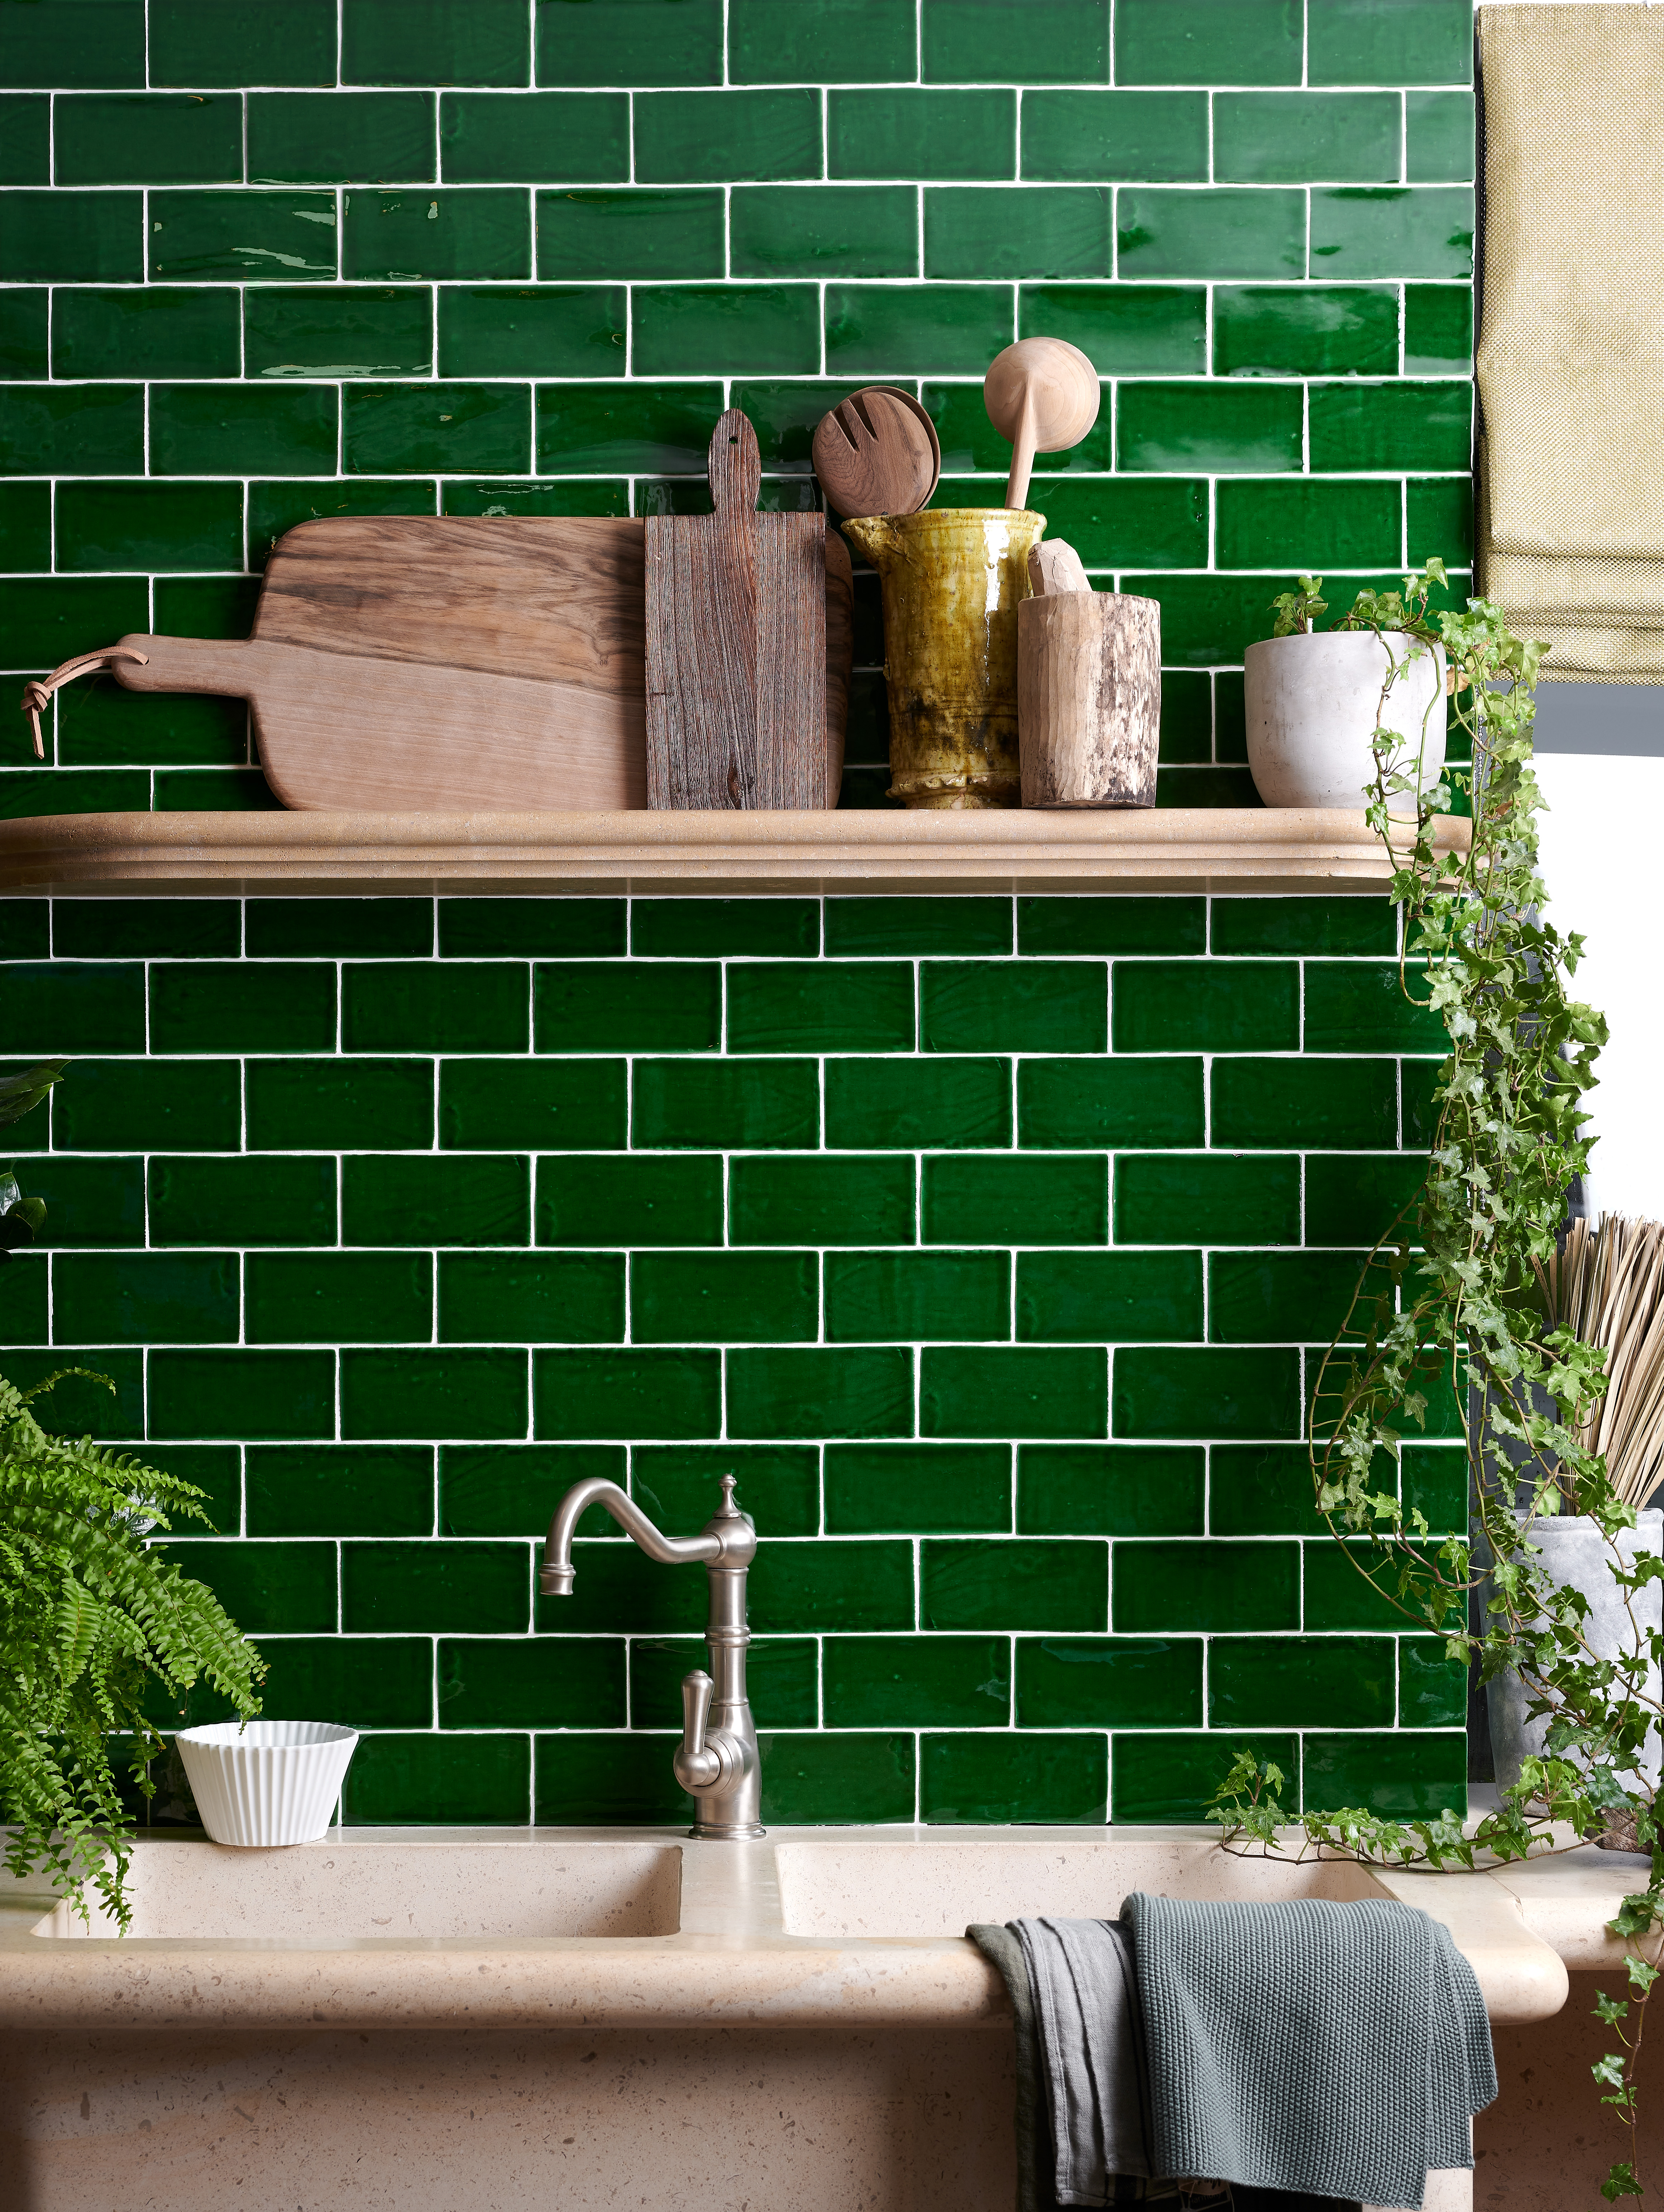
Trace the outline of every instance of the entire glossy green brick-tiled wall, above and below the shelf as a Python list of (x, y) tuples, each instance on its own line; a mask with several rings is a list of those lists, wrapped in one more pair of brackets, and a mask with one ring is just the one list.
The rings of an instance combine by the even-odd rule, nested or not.
[[(852, 13), (861, 35), (852, 38)], [(854, 383), (940, 504), (982, 372), (1102, 376), (1033, 504), (1164, 617), (1164, 805), (1252, 805), (1244, 644), (1469, 560), (1469, 0), (0, 0), (0, 672), (246, 635), (332, 513), (770, 504)], [(1463, 588), (1458, 575), (1456, 588)], [(843, 805), (887, 805), (856, 571)], [(0, 814), (268, 805), (239, 703), (80, 684)], [(1418, 1181), (1438, 1035), (1361, 898), (0, 902), (44, 1248), (20, 1383), (201, 1482), (177, 1546), (268, 1710), (367, 1730), (347, 1818), (675, 1820), (704, 1586), (763, 1548), (772, 1820), (1460, 1796), (1463, 1683), (1359, 1599), (1294, 1442)], [(1460, 1520), (1463, 1455), (1416, 1502)], [(1367, 1599), (1367, 1593), (1363, 1593)], [(199, 1714), (212, 1712), (210, 1701)]]

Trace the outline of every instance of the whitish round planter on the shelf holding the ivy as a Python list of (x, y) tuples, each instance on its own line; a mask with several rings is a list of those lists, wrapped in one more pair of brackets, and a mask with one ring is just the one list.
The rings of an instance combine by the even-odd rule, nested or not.
[[(1376, 721), (1398, 732), (1396, 765), (1429, 790), (1445, 765), (1445, 650), (1398, 630), (1310, 630), (1248, 646), (1248, 768), (1268, 807), (1363, 807)], [(1407, 661), (1407, 666), (1405, 666)], [(1398, 675), (1381, 699), (1394, 664)], [(1392, 803), (1412, 814), (1407, 792)]]

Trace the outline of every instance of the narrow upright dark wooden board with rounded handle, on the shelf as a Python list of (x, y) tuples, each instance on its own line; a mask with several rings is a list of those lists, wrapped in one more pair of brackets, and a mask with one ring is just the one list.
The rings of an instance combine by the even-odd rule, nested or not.
[(710, 436), (710, 515), (646, 524), (651, 807), (825, 807), (825, 515), (759, 515), (757, 431)]

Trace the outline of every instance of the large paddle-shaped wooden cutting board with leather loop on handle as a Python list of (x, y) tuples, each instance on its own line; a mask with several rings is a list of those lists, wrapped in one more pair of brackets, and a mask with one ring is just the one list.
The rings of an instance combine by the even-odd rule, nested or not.
[(285, 807), (644, 807), (642, 573), (626, 518), (330, 515), (277, 542), (248, 639), (124, 637), (119, 681), (248, 699)]

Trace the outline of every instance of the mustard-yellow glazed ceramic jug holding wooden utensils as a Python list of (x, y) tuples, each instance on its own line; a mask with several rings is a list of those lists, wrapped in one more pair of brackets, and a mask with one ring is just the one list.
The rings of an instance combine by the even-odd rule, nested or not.
[(883, 582), (890, 796), (909, 807), (1013, 807), (1018, 599), (1044, 515), (936, 507), (843, 524)]

